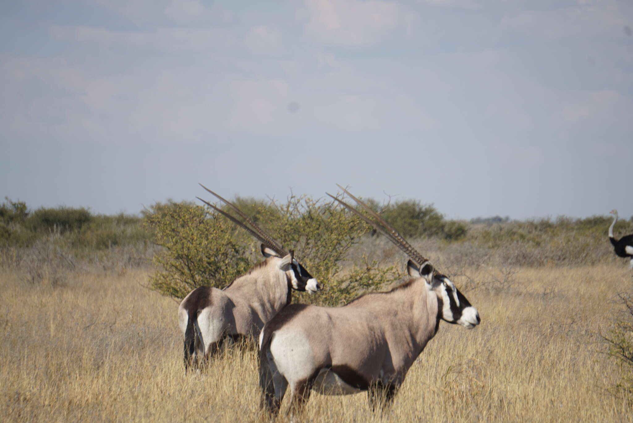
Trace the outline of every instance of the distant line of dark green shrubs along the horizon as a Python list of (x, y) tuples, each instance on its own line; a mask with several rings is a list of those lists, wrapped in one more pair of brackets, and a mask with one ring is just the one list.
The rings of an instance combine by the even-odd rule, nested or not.
[[(380, 212), (404, 237), (434, 238), (444, 243), (468, 241), (486, 248), (498, 248), (508, 243), (522, 243), (527, 246), (544, 246), (556, 243), (578, 242), (583, 244), (594, 239), (596, 243), (606, 240), (606, 232), (611, 223), (608, 215), (587, 218), (543, 218), (532, 220), (511, 220), (510, 217), (477, 217), (465, 220), (448, 220), (433, 205), (417, 200), (403, 200), (382, 205), (374, 199), (365, 199), (375, 211)], [(266, 226), (266, 221), (277, 219), (283, 212), (281, 204), (254, 198), (237, 198), (235, 203), (255, 222)], [(173, 201), (170, 204), (174, 205)], [(194, 203), (178, 203), (191, 208)], [(27, 247), (51, 234), (61, 237), (73, 248), (108, 249), (112, 246), (148, 243), (154, 240), (154, 231), (147, 225), (161, 203), (150, 206), (141, 216), (101, 215), (91, 213), (87, 208), (58, 206), (30, 210), (23, 201), (6, 198), (0, 204), (0, 247)], [(314, 210), (306, 208), (306, 213)], [(295, 215), (299, 216), (299, 215)], [(298, 217), (295, 217), (298, 218)], [(484, 225), (482, 225), (484, 224)], [(299, 229), (298, 229), (299, 230)], [(633, 232), (633, 217), (621, 219), (615, 227), (616, 237)], [(373, 235), (375, 235), (372, 232)], [(301, 236), (301, 234), (295, 234)], [(591, 243), (590, 243), (591, 244)]]

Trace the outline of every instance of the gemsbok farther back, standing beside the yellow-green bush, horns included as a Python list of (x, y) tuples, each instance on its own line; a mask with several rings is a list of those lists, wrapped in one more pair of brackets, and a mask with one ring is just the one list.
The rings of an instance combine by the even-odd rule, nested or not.
[(232, 341), (256, 340), (263, 325), (290, 304), (292, 289), (310, 293), (321, 289), (316, 279), (294, 257), (294, 251), (285, 251), (239, 208), (202, 187), (248, 222), (253, 229), (198, 198), (258, 239), (265, 260), (224, 289), (201, 286), (182, 300), (178, 308), (178, 323), (184, 336), (185, 371), (190, 367), (199, 368), (203, 360), (208, 360), (220, 350), (227, 338)]

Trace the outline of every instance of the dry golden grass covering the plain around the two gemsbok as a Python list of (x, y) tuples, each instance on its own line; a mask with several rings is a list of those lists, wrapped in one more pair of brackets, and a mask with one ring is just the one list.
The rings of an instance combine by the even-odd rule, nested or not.
[[(489, 272), (466, 273), (477, 281)], [(206, 374), (185, 375), (177, 303), (146, 281), (144, 272), (74, 275), (52, 289), (1, 274), (0, 420), (260, 419), (255, 353), (232, 350)], [(630, 421), (633, 410), (606, 390), (617, 367), (596, 336), (615, 320), (615, 294), (630, 285), (629, 270), (612, 264), (520, 268), (503, 289), (466, 293), (482, 324), (442, 323), (389, 411), (372, 414), (363, 394), (313, 394), (303, 417)]]

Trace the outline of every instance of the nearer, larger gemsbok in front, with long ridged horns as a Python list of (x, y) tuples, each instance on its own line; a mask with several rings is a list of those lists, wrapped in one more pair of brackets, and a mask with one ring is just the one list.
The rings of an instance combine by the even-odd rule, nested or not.
[(341, 307), (291, 304), (268, 321), (260, 334), (260, 388), (261, 407), (272, 415), (279, 412), (288, 386), (289, 413), (301, 410), (311, 389), (325, 395), (368, 391), (372, 409), (389, 405), (440, 320), (469, 329), (480, 322), (477, 309), (448, 277), (377, 213), (343, 191), (379, 224), (331, 197), (409, 256), (411, 279)]

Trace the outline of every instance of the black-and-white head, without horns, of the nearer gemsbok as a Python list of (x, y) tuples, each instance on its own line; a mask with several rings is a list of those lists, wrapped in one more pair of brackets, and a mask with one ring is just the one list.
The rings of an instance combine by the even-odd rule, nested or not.
[(411, 277), (425, 280), (427, 290), (437, 296), (437, 317), (445, 322), (460, 324), (467, 329), (477, 326), (479, 312), (470, 305), (467, 298), (460, 293), (446, 275), (435, 272), (433, 265), (427, 260), (418, 266), (412, 260), (407, 263), (407, 272)]

